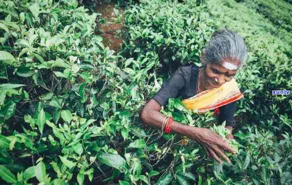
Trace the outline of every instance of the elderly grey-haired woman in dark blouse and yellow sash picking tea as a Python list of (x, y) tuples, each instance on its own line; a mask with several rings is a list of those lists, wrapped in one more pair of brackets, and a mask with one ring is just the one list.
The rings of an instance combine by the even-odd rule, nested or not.
[[(233, 77), (246, 57), (246, 47), (241, 36), (225, 28), (214, 32), (201, 54), (203, 65), (180, 67), (145, 104), (140, 119), (166, 133), (173, 131), (195, 139), (209, 157), (220, 163), (220, 157), (230, 162), (224, 150), (233, 153), (235, 150), (221, 136), (208, 128), (181, 124), (163, 115), (160, 110), (169, 98), (182, 96), (186, 107), (196, 109), (199, 113), (219, 109), (218, 123), (226, 121), (226, 128), (231, 133), (236, 102), (242, 97)], [(232, 134), (229, 138), (233, 138)]]

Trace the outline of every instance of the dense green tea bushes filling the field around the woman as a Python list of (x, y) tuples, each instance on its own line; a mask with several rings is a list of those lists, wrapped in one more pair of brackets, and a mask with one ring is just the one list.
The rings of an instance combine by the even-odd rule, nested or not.
[[(124, 13), (123, 46), (114, 53), (96, 34), (99, 14), (76, 0), (0, 0), (1, 180), (291, 184), (292, 98), (271, 95), (292, 90), (291, 8), (288, 0), (140, 0)], [(221, 27), (239, 32), (249, 50), (236, 76), (244, 98), (231, 164), (139, 120), (178, 66), (200, 65)], [(212, 112), (198, 116), (180, 99), (161, 111), (226, 134)]]

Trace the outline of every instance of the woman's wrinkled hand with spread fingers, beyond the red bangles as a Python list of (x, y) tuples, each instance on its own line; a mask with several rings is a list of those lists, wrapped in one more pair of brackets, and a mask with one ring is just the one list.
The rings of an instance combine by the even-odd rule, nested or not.
[(219, 156), (224, 158), (227, 162), (231, 162), (230, 159), (224, 154), (224, 150), (233, 153), (236, 152), (221, 136), (216, 134), (211, 129), (190, 127), (187, 135), (198, 141), (204, 147), (207, 155), (215, 158), (220, 163), (222, 163), (222, 160)]

